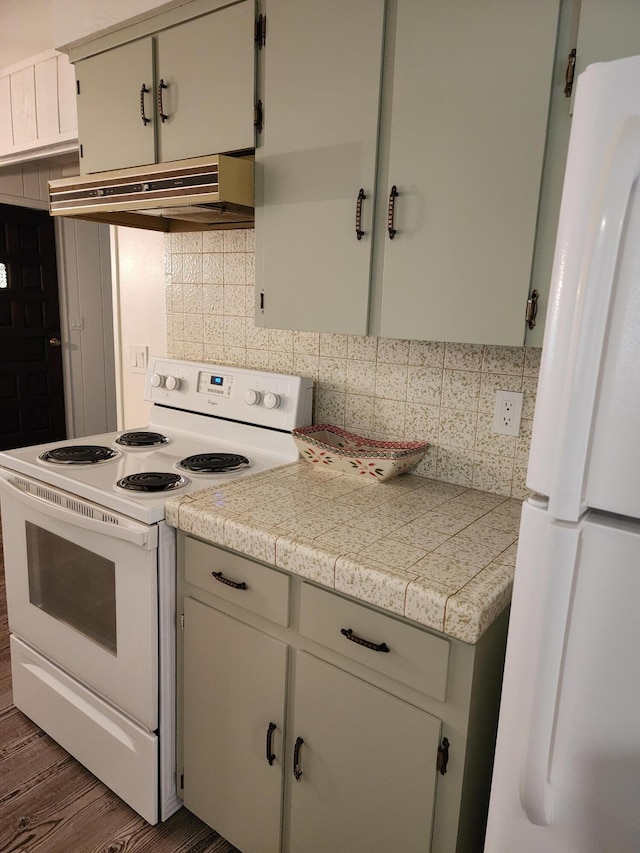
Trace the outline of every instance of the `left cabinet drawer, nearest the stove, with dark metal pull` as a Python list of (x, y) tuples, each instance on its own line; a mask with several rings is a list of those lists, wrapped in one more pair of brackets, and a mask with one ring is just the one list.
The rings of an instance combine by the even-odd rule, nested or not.
[[(289, 624), (288, 575), (188, 536), (184, 557), (187, 583), (278, 625)], [(219, 577), (214, 573), (219, 573)]]

